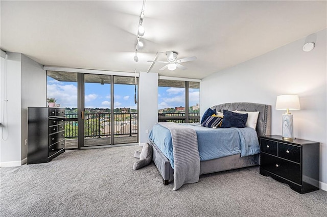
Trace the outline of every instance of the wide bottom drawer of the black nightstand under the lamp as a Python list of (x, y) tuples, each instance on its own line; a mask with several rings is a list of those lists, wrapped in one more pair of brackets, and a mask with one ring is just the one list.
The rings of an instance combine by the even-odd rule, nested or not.
[(298, 184), (302, 182), (300, 164), (261, 153), (261, 167)]

